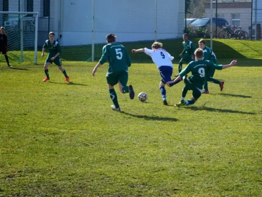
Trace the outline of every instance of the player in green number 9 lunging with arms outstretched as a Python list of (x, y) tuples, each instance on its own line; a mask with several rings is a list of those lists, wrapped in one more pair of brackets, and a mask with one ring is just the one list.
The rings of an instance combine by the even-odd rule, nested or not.
[[(194, 104), (201, 97), (202, 88), (206, 80), (206, 73), (210, 68), (221, 70), (234, 66), (237, 63), (236, 60), (233, 60), (229, 65), (215, 65), (211, 61), (203, 60), (203, 50), (201, 48), (196, 49), (195, 56), (195, 61), (190, 62), (189, 65), (179, 73), (179, 76), (176, 77), (174, 81), (167, 83), (168, 85), (172, 85), (181, 80), (181, 78), (183, 78), (187, 73), (192, 72), (188, 79), (184, 78), (185, 87), (182, 90), (181, 101), (175, 104), (177, 107)], [(185, 101), (186, 94), (189, 90), (193, 91), (192, 98)]]

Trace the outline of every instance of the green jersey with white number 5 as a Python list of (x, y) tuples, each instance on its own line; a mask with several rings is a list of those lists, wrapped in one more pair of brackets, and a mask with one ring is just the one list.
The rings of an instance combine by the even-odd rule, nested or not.
[(128, 70), (128, 67), (131, 66), (130, 57), (122, 44), (110, 43), (103, 47), (103, 55), (99, 63), (103, 65), (107, 60), (109, 73)]

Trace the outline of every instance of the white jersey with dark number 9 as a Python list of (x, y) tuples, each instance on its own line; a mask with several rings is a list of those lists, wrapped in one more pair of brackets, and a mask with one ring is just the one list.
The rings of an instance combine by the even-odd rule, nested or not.
[(153, 62), (156, 64), (159, 69), (160, 66), (170, 66), (173, 68), (172, 60), (174, 59), (165, 49), (147, 49), (145, 48), (146, 55), (149, 55)]

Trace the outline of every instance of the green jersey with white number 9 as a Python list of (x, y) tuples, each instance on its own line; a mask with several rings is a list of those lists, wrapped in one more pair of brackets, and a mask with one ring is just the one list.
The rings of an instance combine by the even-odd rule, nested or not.
[(206, 74), (210, 68), (222, 70), (222, 65), (215, 65), (211, 61), (206, 60), (195, 60), (190, 62), (180, 73), (181, 77), (185, 76), (187, 73), (192, 72), (189, 77), (190, 81), (196, 84), (202, 89), (204, 85)]

